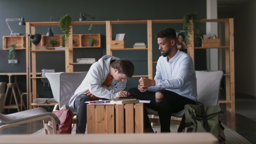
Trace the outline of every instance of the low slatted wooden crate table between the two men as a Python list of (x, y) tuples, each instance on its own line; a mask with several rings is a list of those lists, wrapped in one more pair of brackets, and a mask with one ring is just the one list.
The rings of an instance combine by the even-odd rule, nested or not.
[(143, 133), (144, 104), (87, 104), (87, 133)]

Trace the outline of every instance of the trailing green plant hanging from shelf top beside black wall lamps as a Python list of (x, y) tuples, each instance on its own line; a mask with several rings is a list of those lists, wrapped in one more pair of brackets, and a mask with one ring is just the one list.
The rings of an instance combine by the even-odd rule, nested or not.
[(59, 27), (61, 28), (61, 46), (67, 44), (71, 25), (71, 17), (69, 14), (62, 16), (59, 20)]

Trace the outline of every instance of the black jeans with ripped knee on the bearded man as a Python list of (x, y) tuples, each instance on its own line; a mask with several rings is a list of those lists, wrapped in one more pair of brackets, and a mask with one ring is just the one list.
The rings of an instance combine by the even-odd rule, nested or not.
[[(128, 90), (130, 92), (130, 96), (137, 98), (139, 100), (148, 100), (149, 104), (145, 103), (144, 106), (150, 109), (153, 109), (158, 112), (158, 116), (160, 118), (161, 124), (161, 132), (171, 132), (170, 131), (170, 123), (172, 113), (180, 112), (184, 109), (186, 104), (196, 104), (195, 101), (178, 95), (175, 92), (161, 89), (157, 92), (161, 92), (163, 94), (162, 99), (155, 99), (156, 92), (140, 92), (137, 88), (131, 88)], [(150, 128), (151, 124), (148, 119), (148, 113), (144, 107), (144, 127)]]

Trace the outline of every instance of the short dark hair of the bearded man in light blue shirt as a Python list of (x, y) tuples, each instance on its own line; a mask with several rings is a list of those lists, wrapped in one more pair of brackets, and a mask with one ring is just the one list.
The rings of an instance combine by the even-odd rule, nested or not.
[(166, 39), (175, 40), (175, 42), (177, 40), (175, 29), (172, 29), (172, 28), (169, 28), (169, 27), (166, 27), (164, 29), (159, 30), (156, 33), (155, 37), (156, 38), (164, 38), (164, 37), (166, 37)]

